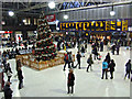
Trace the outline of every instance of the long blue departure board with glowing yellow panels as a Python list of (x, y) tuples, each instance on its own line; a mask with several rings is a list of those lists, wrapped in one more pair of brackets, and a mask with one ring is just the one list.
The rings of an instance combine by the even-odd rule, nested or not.
[(129, 31), (130, 20), (94, 20), (94, 21), (67, 21), (59, 22), (61, 31)]

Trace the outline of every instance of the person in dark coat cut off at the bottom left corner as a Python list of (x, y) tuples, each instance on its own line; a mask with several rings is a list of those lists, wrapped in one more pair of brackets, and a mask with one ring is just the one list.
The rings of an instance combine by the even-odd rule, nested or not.
[(8, 81), (3, 88), (4, 99), (12, 99), (12, 90), (10, 88), (10, 82)]

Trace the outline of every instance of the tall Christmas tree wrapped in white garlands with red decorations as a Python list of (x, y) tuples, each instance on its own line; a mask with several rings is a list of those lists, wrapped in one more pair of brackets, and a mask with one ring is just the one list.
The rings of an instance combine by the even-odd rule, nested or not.
[(42, 13), (37, 24), (35, 57), (40, 62), (53, 59), (56, 55), (56, 48), (55, 44), (53, 44), (50, 25), (44, 13)]

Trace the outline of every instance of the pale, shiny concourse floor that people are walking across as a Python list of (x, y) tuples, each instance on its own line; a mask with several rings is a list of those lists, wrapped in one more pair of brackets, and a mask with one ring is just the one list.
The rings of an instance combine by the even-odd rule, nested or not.
[[(70, 48), (69, 51), (76, 54), (78, 50)], [(61, 52), (64, 53), (64, 51)], [(67, 95), (68, 68), (64, 72), (64, 65), (40, 72), (23, 66), (24, 87), (19, 90), (18, 78), (14, 77), (16, 74), (15, 59), (10, 59), (13, 72), (11, 78), (13, 97), (130, 97), (130, 80), (124, 80), (125, 63), (130, 58), (130, 51), (121, 47), (120, 55), (112, 55), (109, 51), (111, 58), (114, 59), (117, 65), (113, 79), (110, 79), (110, 73), (108, 73), (109, 79), (101, 79), (101, 64), (108, 53), (106, 46), (105, 52), (100, 52), (102, 59), (94, 61), (94, 70), (86, 72), (87, 58), (90, 52), (91, 47), (88, 45), (85, 57), (81, 57), (81, 69), (78, 69), (78, 67), (74, 69), (75, 91), (73, 95)], [(7, 75), (4, 75), (4, 79), (7, 80)], [(3, 97), (2, 92), (0, 92), (1, 97)]]

